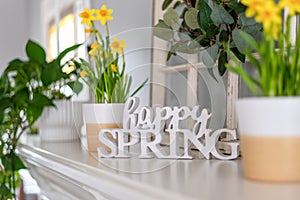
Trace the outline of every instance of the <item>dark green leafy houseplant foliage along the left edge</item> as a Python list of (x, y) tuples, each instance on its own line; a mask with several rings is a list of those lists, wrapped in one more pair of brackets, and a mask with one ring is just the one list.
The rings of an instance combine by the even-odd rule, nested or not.
[[(46, 61), (45, 50), (29, 40), (28, 59), (9, 62), (0, 78), (0, 194), (1, 199), (15, 198), (19, 182), (18, 170), (25, 168), (16, 154), (19, 138), (31, 129), (43, 109), (55, 107), (54, 99), (70, 98), (62, 89), (74, 93), (82, 89), (77, 70), (70, 61), (62, 63), (65, 55), (80, 45), (72, 46), (51, 62)], [(62, 71), (69, 66), (67, 73)]]

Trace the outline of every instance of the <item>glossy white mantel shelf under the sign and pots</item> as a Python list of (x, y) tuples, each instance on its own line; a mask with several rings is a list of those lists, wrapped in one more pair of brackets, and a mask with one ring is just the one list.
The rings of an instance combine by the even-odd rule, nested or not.
[(300, 184), (244, 179), (241, 160), (98, 160), (79, 141), (24, 142), (19, 155), (49, 199), (300, 199)]

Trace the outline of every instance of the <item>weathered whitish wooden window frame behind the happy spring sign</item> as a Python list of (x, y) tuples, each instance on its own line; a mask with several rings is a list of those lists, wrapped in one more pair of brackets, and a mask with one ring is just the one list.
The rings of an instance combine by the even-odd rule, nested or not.
[[(153, 24), (157, 23), (159, 19), (163, 17), (163, 11), (161, 9), (162, 1), (154, 0), (153, 1)], [(164, 67), (153, 67), (152, 68), (152, 87), (151, 87), (151, 105), (164, 105), (165, 103), (165, 89), (161, 87), (166, 82), (166, 73), (172, 71), (186, 71), (187, 72), (187, 81), (191, 86), (187, 91), (187, 104), (188, 106), (194, 106), (197, 103), (197, 99), (192, 98), (195, 91), (197, 91), (198, 87), (198, 76), (197, 69), (195, 67), (191, 67), (189, 63), (193, 63), (193, 66), (205, 67), (202, 63), (197, 63), (197, 55), (190, 55), (188, 57), (189, 63), (184, 65), (177, 65), (168, 67), (166, 65), (167, 55), (162, 54), (158, 49), (166, 49), (166, 45), (163, 46), (160, 39), (153, 37), (153, 52), (152, 52), (152, 63), (155, 66), (164, 66)], [(235, 129), (237, 127), (236, 117), (235, 117), (235, 109), (234, 104), (236, 99), (238, 98), (238, 85), (239, 79), (238, 76), (233, 74), (232, 72), (228, 72), (227, 78), (227, 107), (226, 107), (226, 126), (227, 128)], [(227, 137), (227, 140), (231, 140), (232, 138)]]

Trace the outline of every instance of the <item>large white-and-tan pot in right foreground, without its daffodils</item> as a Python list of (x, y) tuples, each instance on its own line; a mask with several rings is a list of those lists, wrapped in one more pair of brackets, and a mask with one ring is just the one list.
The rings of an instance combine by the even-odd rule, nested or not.
[(245, 98), (236, 109), (245, 177), (300, 181), (300, 97)]

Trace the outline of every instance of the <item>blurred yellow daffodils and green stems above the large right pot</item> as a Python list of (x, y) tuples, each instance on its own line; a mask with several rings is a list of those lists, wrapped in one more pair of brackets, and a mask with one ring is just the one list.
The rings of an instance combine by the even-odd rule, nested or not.
[[(257, 74), (248, 74), (233, 53), (231, 59), (234, 63), (227, 68), (239, 74), (254, 95), (299, 96), (300, 31), (291, 30), (291, 19), (299, 15), (300, 2), (255, 0), (253, 4), (253, 1), (242, 0), (242, 3), (247, 6), (247, 13), (262, 23), (263, 37), (256, 41), (242, 30), (239, 34), (247, 42), (246, 56)], [(289, 12), (286, 21), (283, 21), (285, 9)], [(291, 31), (294, 32), (294, 43), (291, 42)]]

